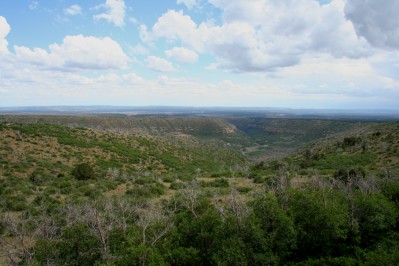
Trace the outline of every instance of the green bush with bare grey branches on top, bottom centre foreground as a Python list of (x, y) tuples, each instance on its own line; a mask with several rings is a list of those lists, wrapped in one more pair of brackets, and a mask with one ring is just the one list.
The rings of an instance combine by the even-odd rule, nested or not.
[(213, 255), (218, 245), (222, 219), (195, 188), (178, 195), (174, 227), (165, 239), (166, 260), (172, 265), (214, 265)]

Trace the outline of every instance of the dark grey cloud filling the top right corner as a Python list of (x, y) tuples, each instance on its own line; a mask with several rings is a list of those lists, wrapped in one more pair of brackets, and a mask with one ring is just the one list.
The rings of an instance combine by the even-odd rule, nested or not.
[(399, 1), (347, 0), (345, 15), (358, 35), (380, 48), (399, 48)]

